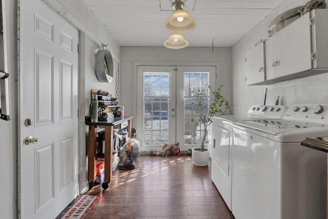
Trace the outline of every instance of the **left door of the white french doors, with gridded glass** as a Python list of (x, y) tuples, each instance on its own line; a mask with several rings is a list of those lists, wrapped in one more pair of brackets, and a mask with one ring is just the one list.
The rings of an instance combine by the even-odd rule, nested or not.
[[(142, 150), (162, 150), (175, 142), (175, 67), (138, 66), (138, 137)], [(141, 130), (139, 132), (139, 130)], [(141, 136), (140, 136), (141, 135)]]

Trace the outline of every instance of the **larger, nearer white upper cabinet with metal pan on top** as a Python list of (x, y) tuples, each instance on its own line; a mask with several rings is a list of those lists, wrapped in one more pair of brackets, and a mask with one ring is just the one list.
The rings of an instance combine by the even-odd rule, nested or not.
[(272, 84), (328, 72), (327, 21), (328, 10), (315, 9), (269, 37), (263, 55), (264, 80), (251, 84)]

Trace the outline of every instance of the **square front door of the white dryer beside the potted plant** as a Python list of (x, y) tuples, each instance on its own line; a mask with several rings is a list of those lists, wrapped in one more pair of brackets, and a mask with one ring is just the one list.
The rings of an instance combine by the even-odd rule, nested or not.
[(214, 161), (226, 176), (229, 176), (230, 163), (230, 135), (231, 126), (221, 123), (213, 124), (213, 152), (212, 161)]

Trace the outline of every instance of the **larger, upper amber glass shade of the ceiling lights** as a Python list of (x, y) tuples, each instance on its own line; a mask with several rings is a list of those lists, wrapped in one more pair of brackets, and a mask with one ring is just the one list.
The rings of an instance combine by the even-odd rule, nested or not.
[[(181, 22), (178, 21), (183, 17)], [(195, 20), (190, 16), (188, 11), (178, 9), (174, 11), (168, 21), (165, 23), (165, 28), (174, 33), (185, 33), (196, 27)]]

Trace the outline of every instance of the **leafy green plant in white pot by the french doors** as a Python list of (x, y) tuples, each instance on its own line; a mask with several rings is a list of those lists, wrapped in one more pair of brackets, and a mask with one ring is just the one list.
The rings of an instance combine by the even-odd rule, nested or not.
[[(207, 166), (210, 151), (205, 147), (209, 141), (207, 140), (208, 128), (213, 122), (213, 116), (223, 115), (231, 108), (227, 99), (221, 95), (220, 91), (223, 85), (220, 85), (216, 90), (212, 90), (211, 86), (208, 86), (208, 90), (198, 90), (196, 93), (197, 101), (194, 103), (194, 112), (198, 116), (198, 119), (192, 119), (194, 125), (200, 126), (202, 129), (201, 144), (200, 147), (195, 147), (192, 150), (193, 163), (197, 166)], [(213, 101), (208, 102), (209, 95), (213, 95)]]

